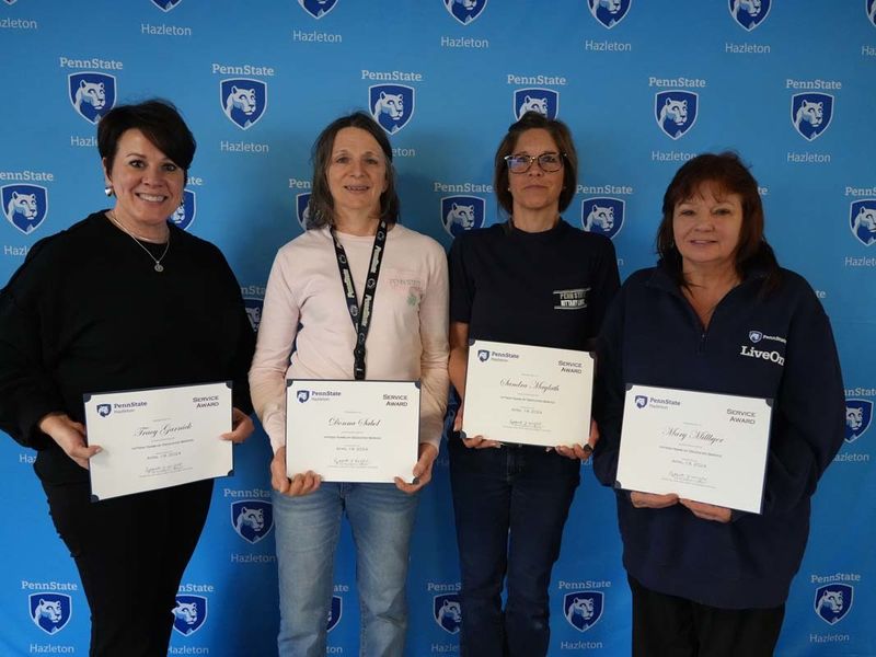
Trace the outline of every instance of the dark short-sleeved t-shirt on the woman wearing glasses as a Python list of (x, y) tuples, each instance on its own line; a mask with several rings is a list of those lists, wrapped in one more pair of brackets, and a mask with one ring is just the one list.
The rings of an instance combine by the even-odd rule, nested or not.
[(470, 339), (590, 349), (619, 286), (611, 241), (562, 219), (538, 233), (473, 230), (450, 249), (450, 320)]

